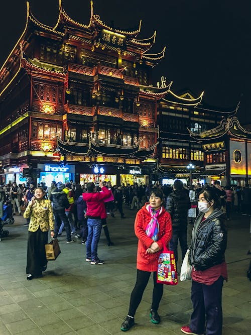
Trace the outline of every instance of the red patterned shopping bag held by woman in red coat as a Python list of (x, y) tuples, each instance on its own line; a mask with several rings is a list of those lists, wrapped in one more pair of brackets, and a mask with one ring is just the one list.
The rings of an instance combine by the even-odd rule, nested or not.
[(178, 284), (174, 252), (168, 250), (164, 243), (163, 251), (158, 260), (157, 283), (166, 285)]

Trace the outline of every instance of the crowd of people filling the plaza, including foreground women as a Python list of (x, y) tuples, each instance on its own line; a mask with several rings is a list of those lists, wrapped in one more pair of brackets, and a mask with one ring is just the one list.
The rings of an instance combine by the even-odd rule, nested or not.
[[(188, 260), (192, 266), (193, 312), (190, 324), (181, 327), (185, 334), (221, 335), (223, 281), (227, 280), (225, 249), (227, 230), (225, 219), (231, 211), (251, 215), (251, 189), (223, 187), (219, 181), (213, 185), (197, 183), (190, 188), (179, 179), (174, 184), (159, 185), (111, 185), (108, 182), (93, 182), (79, 185), (52, 182), (48, 187), (41, 183), (35, 187), (8, 183), (0, 188), (2, 202), (10, 198), (13, 214), (16, 211), (27, 219), (27, 280), (40, 277), (47, 268), (45, 244), (48, 232), (52, 239), (66, 233), (66, 243), (82, 238), (86, 244), (86, 262), (103, 264), (98, 257), (98, 243), (103, 228), (107, 245), (112, 246), (107, 227), (107, 215), (115, 216), (116, 210), (123, 219), (123, 206), (137, 210), (135, 234), (139, 239), (137, 252), (137, 278), (131, 293), (128, 315), (120, 326), (122, 331), (135, 324), (135, 314), (144, 290), (153, 273), (153, 298), (150, 318), (160, 323), (158, 307), (163, 295), (163, 284), (157, 283), (157, 265), (163, 246), (174, 252), (178, 265), (178, 243), (183, 260), (189, 250)], [(1, 201), (0, 201), (1, 204)], [(140, 209), (141, 208), (141, 209)], [(187, 244), (188, 222), (193, 224), (191, 244)], [(80, 229), (79, 234), (77, 229)], [(179, 271), (179, 270), (178, 270)], [(206, 324), (206, 326), (205, 326)], [(206, 327), (206, 328), (205, 328)]]

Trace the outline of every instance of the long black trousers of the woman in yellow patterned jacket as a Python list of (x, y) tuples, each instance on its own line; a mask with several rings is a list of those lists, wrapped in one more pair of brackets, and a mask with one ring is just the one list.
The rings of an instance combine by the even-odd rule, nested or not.
[(47, 264), (45, 245), (48, 243), (48, 232), (28, 232), (26, 273), (33, 276), (42, 275), (42, 267)]

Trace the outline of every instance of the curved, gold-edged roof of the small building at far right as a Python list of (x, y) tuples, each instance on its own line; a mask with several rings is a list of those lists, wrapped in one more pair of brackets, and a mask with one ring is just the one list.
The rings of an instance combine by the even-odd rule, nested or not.
[(251, 141), (251, 132), (244, 129), (236, 117), (224, 118), (216, 128), (201, 132), (193, 133), (188, 129), (190, 136), (199, 141), (207, 141), (218, 139), (224, 135), (229, 135), (232, 138), (239, 140)]

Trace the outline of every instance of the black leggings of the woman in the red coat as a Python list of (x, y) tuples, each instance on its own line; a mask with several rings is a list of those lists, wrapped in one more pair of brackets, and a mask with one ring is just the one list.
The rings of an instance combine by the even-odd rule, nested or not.
[[(130, 299), (130, 306), (128, 315), (134, 316), (136, 310), (141, 302), (143, 293), (149, 281), (151, 272), (137, 270), (137, 280), (135, 287), (131, 293)], [(152, 307), (153, 310), (158, 310), (159, 304), (163, 295), (163, 284), (157, 283), (157, 273), (153, 273), (154, 276), (154, 289), (153, 289), (153, 300), (152, 300)]]

